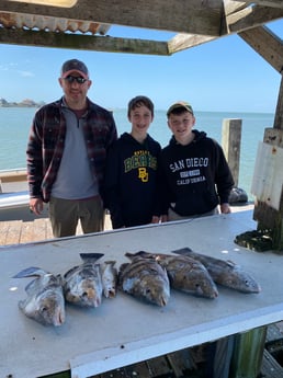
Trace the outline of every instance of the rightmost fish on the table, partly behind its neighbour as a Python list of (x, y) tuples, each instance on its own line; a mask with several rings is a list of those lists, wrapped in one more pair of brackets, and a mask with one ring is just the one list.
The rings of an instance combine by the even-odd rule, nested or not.
[(261, 291), (259, 283), (242, 266), (234, 262), (212, 257), (192, 251), (190, 248), (182, 248), (172, 251), (182, 256), (190, 256), (200, 261), (210, 272), (213, 280), (222, 286), (246, 294), (258, 294)]

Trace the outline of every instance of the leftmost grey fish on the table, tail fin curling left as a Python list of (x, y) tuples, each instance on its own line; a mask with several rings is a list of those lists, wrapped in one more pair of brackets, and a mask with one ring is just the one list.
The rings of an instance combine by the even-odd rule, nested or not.
[(35, 277), (25, 287), (26, 299), (19, 301), (23, 313), (44, 325), (61, 325), (65, 322), (65, 299), (61, 276), (31, 266), (13, 278)]

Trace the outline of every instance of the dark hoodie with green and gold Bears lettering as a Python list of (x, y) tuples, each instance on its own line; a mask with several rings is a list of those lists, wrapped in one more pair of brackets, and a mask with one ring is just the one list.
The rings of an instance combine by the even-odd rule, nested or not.
[(124, 133), (107, 153), (105, 207), (112, 227), (147, 225), (159, 215), (157, 162), (160, 145), (147, 135), (139, 144)]

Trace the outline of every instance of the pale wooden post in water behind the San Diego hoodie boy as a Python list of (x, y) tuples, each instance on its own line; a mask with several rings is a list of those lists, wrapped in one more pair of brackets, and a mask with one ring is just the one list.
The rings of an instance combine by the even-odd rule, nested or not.
[(230, 168), (235, 187), (239, 183), (241, 119), (224, 119), (222, 128), (222, 146)]

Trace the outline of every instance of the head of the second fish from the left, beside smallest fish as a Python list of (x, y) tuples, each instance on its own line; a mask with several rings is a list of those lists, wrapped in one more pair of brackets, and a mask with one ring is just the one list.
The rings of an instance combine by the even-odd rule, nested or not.
[(99, 307), (102, 300), (102, 284), (95, 277), (76, 279), (64, 286), (68, 302), (82, 307)]

